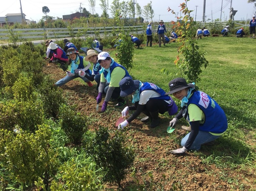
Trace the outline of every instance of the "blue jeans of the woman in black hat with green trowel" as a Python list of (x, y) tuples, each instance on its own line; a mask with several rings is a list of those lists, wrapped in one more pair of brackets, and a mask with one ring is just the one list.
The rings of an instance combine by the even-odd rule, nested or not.
[[(188, 136), (190, 135), (190, 133), (188, 133), (185, 137), (183, 137), (183, 139), (181, 140), (181, 146), (183, 147), (187, 140), (188, 140)], [(196, 150), (198, 151), (201, 148), (201, 145), (204, 143), (208, 143), (211, 142), (215, 139), (218, 139), (221, 135), (212, 135), (211, 133), (207, 132), (207, 131), (199, 131), (195, 141), (193, 142), (193, 144), (191, 145), (191, 147), (189, 148), (189, 150)]]

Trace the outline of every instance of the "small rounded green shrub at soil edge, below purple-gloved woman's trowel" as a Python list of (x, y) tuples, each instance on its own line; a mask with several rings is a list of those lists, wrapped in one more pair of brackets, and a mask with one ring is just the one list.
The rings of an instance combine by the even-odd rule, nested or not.
[(76, 113), (67, 105), (60, 107), (59, 119), (61, 128), (65, 131), (70, 141), (80, 144), (84, 133), (87, 131), (87, 117)]

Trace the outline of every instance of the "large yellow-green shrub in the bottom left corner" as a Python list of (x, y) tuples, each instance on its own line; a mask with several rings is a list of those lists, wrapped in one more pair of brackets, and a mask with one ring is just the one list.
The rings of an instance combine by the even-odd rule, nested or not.
[(26, 185), (42, 177), (48, 187), (50, 174), (56, 173), (59, 165), (58, 153), (50, 145), (50, 127), (39, 125), (35, 134), (20, 129), (16, 136), (0, 129), (0, 138), (0, 161), (10, 177)]

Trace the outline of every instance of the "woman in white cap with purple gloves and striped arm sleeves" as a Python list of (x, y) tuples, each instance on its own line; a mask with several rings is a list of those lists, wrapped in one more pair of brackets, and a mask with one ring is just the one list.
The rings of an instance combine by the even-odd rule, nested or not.
[[(100, 70), (100, 86), (99, 93), (96, 98), (97, 104), (101, 102), (103, 91), (106, 93), (106, 97), (101, 107), (101, 111), (105, 112), (107, 109), (108, 101), (110, 98), (112, 100), (117, 100), (118, 104), (115, 107), (123, 107), (126, 104), (124, 98), (120, 96), (121, 89), (119, 87), (119, 82), (124, 77), (131, 77), (128, 71), (124, 68), (124, 66), (116, 63), (113, 58), (107, 52), (101, 52), (98, 55), (98, 62), (102, 67)], [(109, 83), (107, 87), (105, 87), (106, 82)]]

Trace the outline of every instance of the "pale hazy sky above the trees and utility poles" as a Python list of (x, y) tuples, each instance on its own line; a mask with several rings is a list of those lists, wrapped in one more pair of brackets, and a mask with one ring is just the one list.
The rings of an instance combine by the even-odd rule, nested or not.
[[(121, 0), (120, 0), (121, 1)], [(221, 1), (222, 1), (222, 20), (226, 17), (229, 17), (229, 8), (230, 8), (230, 1), (227, 0), (206, 0), (206, 9), (205, 15), (206, 20), (209, 19), (216, 19), (220, 18), (220, 8), (221, 8)], [(87, 11), (90, 11), (88, 0), (81, 0), (81, 1), (70, 1), (70, 0), (61, 0), (61, 1), (52, 1), (52, 0), (21, 0), (22, 11), (26, 15), (26, 19), (38, 21), (44, 16), (42, 12), (43, 6), (48, 6), (50, 12), (48, 15), (53, 17), (60, 17), (62, 15), (68, 15), (79, 11), (80, 3), (82, 3), (82, 7), (85, 7)], [(143, 6), (148, 4), (149, 0), (137, 0), (137, 3), (143, 9)], [(157, 0), (152, 0), (152, 7), (155, 12), (155, 17), (153, 21), (158, 21), (159, 18), (164, 20), (165, 22), (176, 20), (174, 15), (171, 12), (167, 12), (168, 6), (172, 8), (174, 11), (179, 12), (180, 3), (183, 3), (184, 0), (161, 0), (161, 2)], [(112, 0), (109, 0), (109, 8), (112, 4)], [(20, 13), (20, 0), (8, 0), (2, 1), (0, 8), (0, 17), (4, 17), (7, 13)], [(99, 6), (100, 0), (96, 0), (95, 10), (99, 15), (101, 15), (102, 10)], [(197, 6), (197, 11), (196, 11)], [(232, 7), (234, 10), (238, 10), (235, 15), (235, 20), (241, 20), (246, 18), (246, 14), (248, 19), (255, 14), (255, 8), (253, 4), (248, 4), (247, 0), (232, 0)], [(190, 0), (188, 1), (188, 8), (190, 10), (195, 10), (192, 12), (194, 18), (196, 17), (196, 21), (201, 21), (203, 16), (203, 0)], [(110, 11), (108, 11), (110, 15)]]

